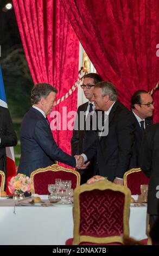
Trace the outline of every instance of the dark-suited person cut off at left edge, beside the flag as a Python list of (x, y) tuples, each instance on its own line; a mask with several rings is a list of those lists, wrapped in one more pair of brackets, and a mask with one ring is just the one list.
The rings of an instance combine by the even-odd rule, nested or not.
[(17, 136), (12, 125), (8, 108), (0, 107), (0, 170), (5, 173), (7, 178), (7, 156), (6, 147), (14, 147), (17, 144)]

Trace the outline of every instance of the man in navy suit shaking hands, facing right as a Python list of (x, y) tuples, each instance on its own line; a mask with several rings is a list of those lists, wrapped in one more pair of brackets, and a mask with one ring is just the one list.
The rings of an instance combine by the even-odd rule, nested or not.
[(55, 103), (57, 89), (47, 83), (39, 83), (31, 90), (30, 110), (21, 124), (21, 159), (18, 173), (30, 176), (37, 168), (47, 167), (54, 160), (75, 167), (79, 160), (69, 156), (56, 145), (46, 120)]

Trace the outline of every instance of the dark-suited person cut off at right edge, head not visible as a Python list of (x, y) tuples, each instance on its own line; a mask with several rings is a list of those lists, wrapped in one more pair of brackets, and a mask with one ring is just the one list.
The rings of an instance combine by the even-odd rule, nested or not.
[(148, 214), (150, 214), (151, 227), (157, 219), (159, 204), (159, 123), (145, 130), (139, 160), (143, 172), (150, 178)]

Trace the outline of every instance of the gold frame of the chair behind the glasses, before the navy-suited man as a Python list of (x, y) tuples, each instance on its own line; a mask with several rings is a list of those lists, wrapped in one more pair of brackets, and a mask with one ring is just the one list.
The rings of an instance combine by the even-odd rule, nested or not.
[(77, 176), (77, 187), (80, 185), (80, 174), (77, 172), (77, 170), (65, 168), (63, 166), (59, 166), (58, 164), (52, 164), (52, 166), (47, 166), (46, 168), (39, 168), (39, 169), (34, 170), (31, 173), (31, 175), (30, 175), (30, 179), (31, 179), (31, 182), (32, 182), (31, 194), (35, 193), (34, 175), (37, 174), (37, 173), (47, 172), (48, 170), (52, 170), (52, 172), (58, 172), (59, 170), (62, 170), (63, 172), (74, 173)]

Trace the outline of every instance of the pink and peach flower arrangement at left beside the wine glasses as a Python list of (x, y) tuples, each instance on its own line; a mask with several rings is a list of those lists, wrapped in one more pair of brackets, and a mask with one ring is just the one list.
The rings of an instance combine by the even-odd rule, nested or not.
[(14, 194), (15, 191), (18, 192), (31, 192), (31, 180), (26, 174), (18, 173), (16, 176), (12, 177), (8, 185), (10, 193)]

